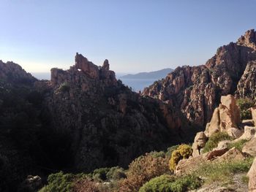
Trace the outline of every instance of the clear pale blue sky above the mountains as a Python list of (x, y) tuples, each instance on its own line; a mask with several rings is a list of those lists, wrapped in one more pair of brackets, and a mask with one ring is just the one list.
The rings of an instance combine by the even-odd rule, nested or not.
[(0, 60), (69, 69), (75, 53), (117, 73), (205, 64), (256, 28), (256, 0), (0, 0)]

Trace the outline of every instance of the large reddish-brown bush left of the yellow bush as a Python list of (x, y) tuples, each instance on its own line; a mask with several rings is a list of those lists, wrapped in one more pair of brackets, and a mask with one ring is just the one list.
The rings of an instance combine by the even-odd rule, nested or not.
[(151, 178), (168, 172), (167, 160), (146, 153), (129, 164), (127, 179), (119, 182), (119, 191), (139, 191), (140, 187)]

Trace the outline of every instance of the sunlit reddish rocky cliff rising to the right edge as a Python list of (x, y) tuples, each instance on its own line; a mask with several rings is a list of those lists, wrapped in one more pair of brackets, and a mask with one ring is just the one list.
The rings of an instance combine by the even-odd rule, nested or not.
[(236, 93), (254, 99), (256, 32), (246, 31), (238, 42), (219, 47), (203, 66), (182, 66), (145, 88), (144, 96), (172, 103), (190, 122), (200, 126), (211, 119), (220, 96)]

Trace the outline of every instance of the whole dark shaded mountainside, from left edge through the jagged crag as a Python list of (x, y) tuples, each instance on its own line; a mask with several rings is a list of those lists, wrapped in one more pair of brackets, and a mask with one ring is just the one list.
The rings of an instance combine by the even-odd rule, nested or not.
[(17, 191), (30, 174), (127, 167), (188, 140), (180, 132), (186, 122), (167, 104), (115, 76), (108, 60), (96, 66), (80, 54), (70, 69), (51, 69), (50, 80), (0, 61), (0, 191)]

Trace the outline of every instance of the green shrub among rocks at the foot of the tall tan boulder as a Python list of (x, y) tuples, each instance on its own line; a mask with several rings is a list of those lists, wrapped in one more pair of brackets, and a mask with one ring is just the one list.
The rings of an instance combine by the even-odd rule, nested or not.
[(206, 146), (203, 148), (203, 153), (211, 151), (212, 149), (217, 147), (219, 142), (231, 139), (232, 137), (230, 137), (226, 132), (218, 132), (212, 134), (211, 137), (208, 139), (208, 142), (206, 142)]

